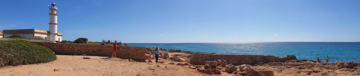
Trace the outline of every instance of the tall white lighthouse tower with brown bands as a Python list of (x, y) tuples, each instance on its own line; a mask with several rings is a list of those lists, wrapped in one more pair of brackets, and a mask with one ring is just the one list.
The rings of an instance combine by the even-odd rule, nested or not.
[(58, 41), (58, 7), (55, 2), (49, 6), (49, 40)]

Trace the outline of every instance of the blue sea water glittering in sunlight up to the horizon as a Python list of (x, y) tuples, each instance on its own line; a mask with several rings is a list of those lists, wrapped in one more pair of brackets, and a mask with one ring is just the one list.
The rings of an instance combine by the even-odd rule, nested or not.
[(128, 46), (181, 49), (193, 52), (214, 52), (236, 55), (296, 55), (297, 59), (325, 62), (360, 61), (360, 42), (248, 42), (248, 43), (128, 43)]

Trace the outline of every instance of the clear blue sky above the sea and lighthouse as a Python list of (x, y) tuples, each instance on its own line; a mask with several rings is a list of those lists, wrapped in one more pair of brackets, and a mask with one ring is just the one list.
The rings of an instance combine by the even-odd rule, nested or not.
[[(1, 0), (0, 30), (49, 30), (52, 0)], [(360, 41), (360, 0), (55, 0), (63, 40)]]

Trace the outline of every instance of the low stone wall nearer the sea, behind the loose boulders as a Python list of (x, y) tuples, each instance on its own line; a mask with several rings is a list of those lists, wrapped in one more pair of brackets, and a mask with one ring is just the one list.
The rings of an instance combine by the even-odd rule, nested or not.
[(271, 55), (224, 55), (224, 54), (201, 54), (197, 53), (190, 59), (190, 64), (193, 65), (204, 65), (205, 61), (216, 61), (223, 59), (228, 61), (228, 64), (242, 65), (242, 64), (256, 64), (259, 62), (279, 62), (286, 60), (296, 59), (295, 55), (288, 55), (286, 57), (278, 57)]

